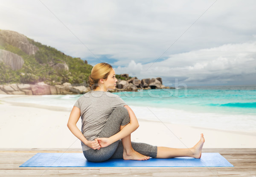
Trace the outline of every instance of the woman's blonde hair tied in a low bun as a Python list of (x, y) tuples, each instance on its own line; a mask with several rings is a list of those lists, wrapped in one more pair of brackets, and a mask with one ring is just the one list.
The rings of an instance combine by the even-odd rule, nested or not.
[(89, 76), (89, 86), (91, 90), (96, 89), (98, 86), (100, 79), (107, 79), (110, 71), (112, 70), (112, 66), (108, 63), (98, 63), (93, 66), (91, 74)]

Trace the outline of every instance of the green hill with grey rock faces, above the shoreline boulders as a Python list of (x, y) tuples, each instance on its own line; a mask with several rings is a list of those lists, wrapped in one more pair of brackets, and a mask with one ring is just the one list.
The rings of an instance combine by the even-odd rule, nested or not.
[(15, 31), (0, 30), (0, 84), (87, 83), (93, 66)]

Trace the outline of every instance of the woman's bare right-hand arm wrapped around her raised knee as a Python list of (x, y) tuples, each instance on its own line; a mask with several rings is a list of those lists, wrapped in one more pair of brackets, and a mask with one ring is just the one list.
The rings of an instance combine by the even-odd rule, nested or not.
[(99, 141), (100, 146), (106, 147), (111, 145), (112, 143), (116, 142), (117, 140), (120, 140), (132, 132), (134, 132), (138, 127), (139, 123), (137, 120), (137, 117), (134, 114), (134, 111), (128, 106), (125, 105), (125, 108), (127, 109), (129, 116), (130, 116), (130, 123), (128, 123), (126, 126), (124, 126), (118, 133), (114, 134), (113, 136), (109, 138), (96, 138), (95, 140)]

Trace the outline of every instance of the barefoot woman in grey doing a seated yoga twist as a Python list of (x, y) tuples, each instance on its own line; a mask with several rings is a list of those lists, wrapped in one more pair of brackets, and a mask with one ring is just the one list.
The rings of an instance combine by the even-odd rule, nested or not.
[[(108, 63), (96, 64), (89, 76), (92, 91), (75, 103), (67, 123), (70, 131), (81, 140), (84, 157), (92, 162), (110, 158), (148, 160), (153, 158), (201, 157), (204, 136), (192, 148), (168, 148), (131, 142), (131, 133), (139, 127), (131, 108), (116, 94), (115, 71)], [(81, 116), (81, 131), (76, 126)]]

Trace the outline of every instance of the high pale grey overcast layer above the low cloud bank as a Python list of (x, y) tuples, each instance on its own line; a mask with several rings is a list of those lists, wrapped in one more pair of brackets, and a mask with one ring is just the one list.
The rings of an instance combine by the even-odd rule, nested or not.
[[(108, 55), (123, 66), (131, 60), (156, 60), (214, 1), (42, 2), (2, 2), (1, 29), (18, 31), (75, 57)], [(250, 40), (256, 30), (255, 5), (253, 0), (217, 1), (162, 57)]]

